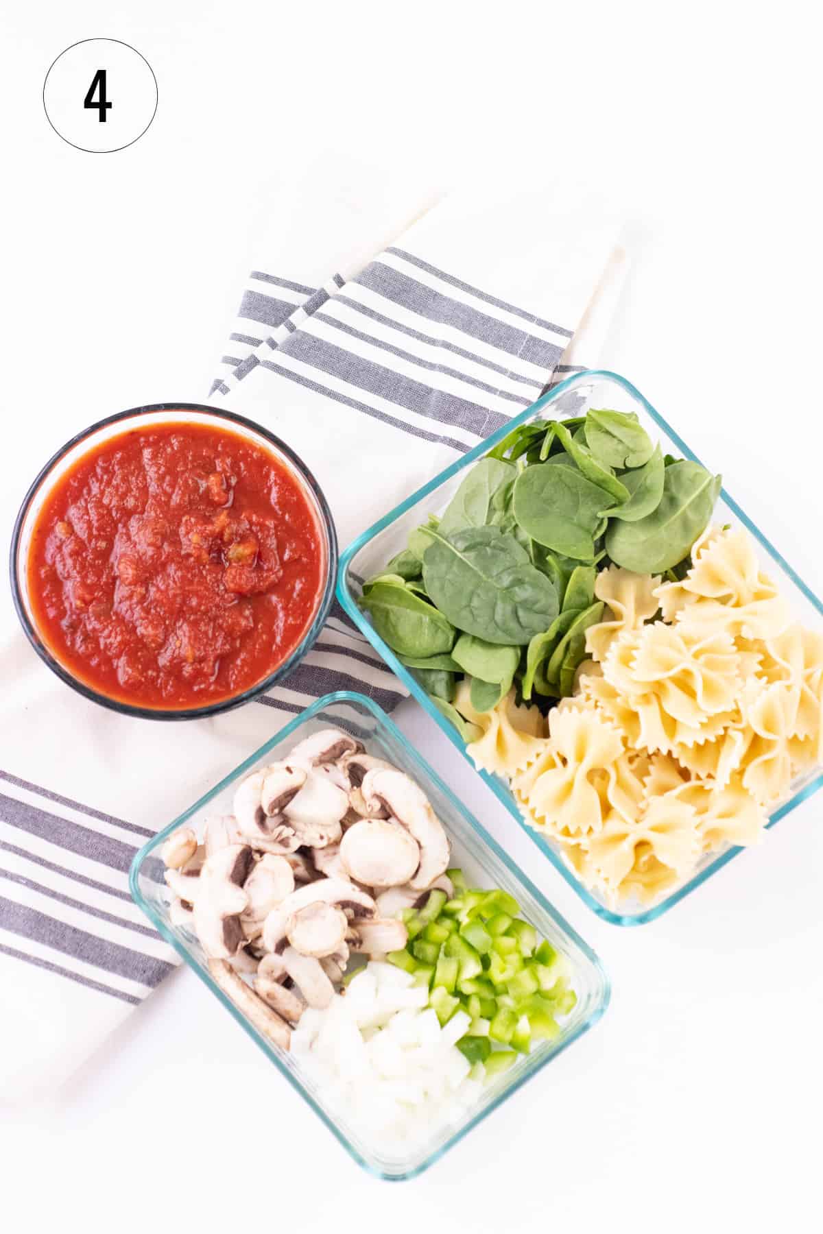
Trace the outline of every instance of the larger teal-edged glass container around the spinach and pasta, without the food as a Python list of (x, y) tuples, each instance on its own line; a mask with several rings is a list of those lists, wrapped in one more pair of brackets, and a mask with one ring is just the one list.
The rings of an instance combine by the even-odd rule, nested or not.
[[(349, 544), (341, 557), (337, 584), (337, 595), (341, 605), (352, 621), (363, 631), (369, 642), (380, 652), (384, 660), (402, 681), (408, 692), (428, 712), (434, 723), (442, 728), (448, 739), (460, 750), (473, 768), (474, 763), (466, 754), (465, 743), (454, 726), (434, 707), (428, 695), (422, 690), (408, 669), (400, 663), (391, 648), (384, 643), (371, 626), (368, 615), (359, 610), (358, 597), (362, 594), (363, 581), (379, 574), (385, 568), (386, 561), (406, 547), (408, 533), (415, 527), (426, 522), (429, 513), (437, 515), (445, 508), (466, 470), (496, 445), (497, 442), (502, 441), (515, 426), (547, 416), (564, 420), (570, 416), (585, 415), (589, 407), (634, 411), (644, 428), (653, 438), (660, 441), (664, 452), (682, 455), (682, 458), (693, 459), (697, 463), (701, 462), (679, 433), (654, 410), (631, 381), (627, 381), (626, 378), (619, 376), (617, 373), (589, 369), (576, 373), (554, 386), (553, 390), (542, 395), (531, 407), (515, 416), (503, 428), (498, 429), (485, 442), (481, 442), (480, 445), (476, 445), (464, 458), (453, 463), (452, 466), (440, 471), (439, 475), (436, 475), (422, 489), (418, 489), (406, 501), (374, 523), (373, 527), (369, 527), (368, 531)], [(823, 617), (823, 603), (806, 586), (796, 571), (792, 570), (786, 559), (766, 539), (763, 532), (755, 527), (726, 487), (723, 487), (721, 499), (714, 508), (713, 521), (745, 527), (755, 539), (758, 557), (764, 570), (776, 580), (781, 592), (786, 596), (793, 619), (801, 621), (803, 624), (819, 627), (821, 617)], [(485, 780), (497, 800), (506, 807), (518, 826), (531, 835), (540, 851), (552, 861), (584, 903), (603, 921), (611, 922), (614, 926), (642, 926), (654, 921), (743, 851), (742, 848), (729, 845), (718, 853), (706, 854), (696, 866), (692, 876), (686, 882), (674, 887), (656, 903), (649, 906), (633, 900), (613, 905), (607, 902), (598, 892), (585, 887), (575, 871), (565, 864), (559, 847), (549, 837), (540, 834), (526, 823), (508, 785), (501, 776), (476, 769), (475, 771)], [(790, 811), (822, 786), (823, 769), (821, 768), (816, 768), (803, 776), (797, 777), (791, 785), (787, 796), (775, 803), (770, 811), (769, 827), (774, 827), (775, 823), (785, 818)]]

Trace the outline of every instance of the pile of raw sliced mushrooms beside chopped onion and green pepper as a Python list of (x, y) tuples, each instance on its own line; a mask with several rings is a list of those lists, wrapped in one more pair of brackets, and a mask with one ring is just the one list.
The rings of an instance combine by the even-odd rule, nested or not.
[(276, 1044), (322, 1009), (352, 951), (385, 956), (397, 913), (453, 892), (449, 844), (426, 795), (359, 740), (325, 728), (238, 784), (233, 814), (169, 838), (169, 914), (192, 929), (217, 985)]

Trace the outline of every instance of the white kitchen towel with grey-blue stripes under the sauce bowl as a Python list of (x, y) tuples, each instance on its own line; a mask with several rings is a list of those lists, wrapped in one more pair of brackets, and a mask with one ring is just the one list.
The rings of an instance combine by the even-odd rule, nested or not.
[[(542, 189), (432, 205), (363, 169), (304, 180), (262, 244), (211, 401), (306, 459), (345, 545), (574, 369), (579, 346), (592, 360), (614, 241), (586, 202)], [(21, 1097), (77, 1067), (175, 963), (128, 897), (143, 839), (318, 695), (390, 708), (403, 691), (339, 608), (286, 682), (196, 723), (95, 707), (11, 621), (0, 663), (0, 1093)]]

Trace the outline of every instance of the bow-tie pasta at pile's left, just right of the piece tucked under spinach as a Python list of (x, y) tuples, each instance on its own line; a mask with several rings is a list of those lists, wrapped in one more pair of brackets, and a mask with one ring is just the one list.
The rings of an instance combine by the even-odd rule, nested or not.
[(596, 711), (555, 708), (545, 749), (512, 787), (554, 835), (586, 835), (602, 827), (610, 772), (622, 754), (619, 733)]

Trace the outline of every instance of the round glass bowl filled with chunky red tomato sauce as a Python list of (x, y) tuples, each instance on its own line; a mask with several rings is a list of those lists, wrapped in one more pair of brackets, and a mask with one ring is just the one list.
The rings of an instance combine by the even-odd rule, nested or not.
[(283, 681), (334, 595), (337, 537), (305, 463), (201, 404), (154, 404), (68, 442), (11, 543), (17, 616), (42, 660), (130, 716), (194, 719)]

